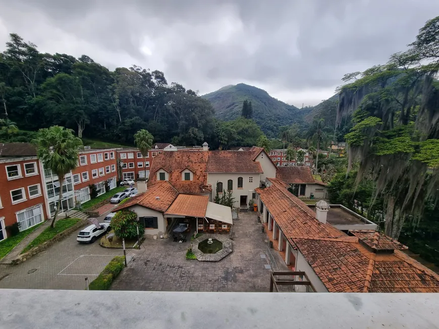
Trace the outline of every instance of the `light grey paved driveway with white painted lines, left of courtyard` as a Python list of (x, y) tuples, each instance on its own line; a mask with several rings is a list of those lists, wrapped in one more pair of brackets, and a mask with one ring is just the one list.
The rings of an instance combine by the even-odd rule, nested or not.
[[(98, 217), (99, 222), (106, 213)], [(97, 241), (79, 244), (76, 241), (79, 231), (19, 265), (0, 265), (0, 288), (85, 289), (84, 279), (94, 280), (105, 265), (115, 255), (123, 255), (123, 251), (102, 248)]]

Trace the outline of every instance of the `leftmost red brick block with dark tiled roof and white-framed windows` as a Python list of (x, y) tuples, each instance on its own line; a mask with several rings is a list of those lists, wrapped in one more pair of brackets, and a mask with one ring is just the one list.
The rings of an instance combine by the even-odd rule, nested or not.
[(0, 144), (0, 241), (8, 237), (7, 226), (20, 223), (23, 231), (48, 218), (42, 170), (35, 147)]

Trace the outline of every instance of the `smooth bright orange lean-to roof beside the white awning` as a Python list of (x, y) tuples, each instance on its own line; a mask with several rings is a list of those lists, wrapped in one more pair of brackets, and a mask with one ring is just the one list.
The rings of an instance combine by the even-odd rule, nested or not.
[(165, 214), (204, 217), (208, 202), (208, 196), (179, 194)]

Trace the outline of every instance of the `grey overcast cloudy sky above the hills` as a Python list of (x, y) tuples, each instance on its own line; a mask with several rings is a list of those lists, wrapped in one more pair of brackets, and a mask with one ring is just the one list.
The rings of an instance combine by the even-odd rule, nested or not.
[(240, 82), (296, 106), (404, 50), (437, 0), (0, 0), (9, 33), (113, 70), (163, 71), (200, 94)]

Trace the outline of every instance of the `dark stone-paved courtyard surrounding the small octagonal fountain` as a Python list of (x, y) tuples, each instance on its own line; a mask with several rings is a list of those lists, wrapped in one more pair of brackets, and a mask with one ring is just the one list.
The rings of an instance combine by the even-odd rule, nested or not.
[[(146, 240), (112, 290), (267, 292), (268, 238), (256, 213), (243, 212), (234, 223), (233, 252), (219, 262), (186, 260), (189, 243)], [(143, 252), (142, 252), (143, 251)], [(261, 257), (263, 255), (263, 258)], [(278, 260), (278, 265), (281, 262)], [(285, 268), (280, 268), (285, 269)]]

